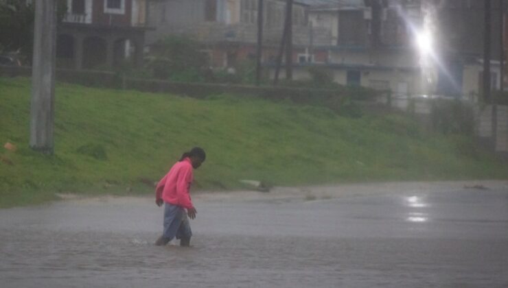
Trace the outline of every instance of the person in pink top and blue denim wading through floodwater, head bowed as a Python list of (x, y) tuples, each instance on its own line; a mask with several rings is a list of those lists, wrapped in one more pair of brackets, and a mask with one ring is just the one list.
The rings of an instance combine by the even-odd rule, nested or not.
[(180, 239), (181, 246), (189, 246), (192, 230), (187, 215), (194, 219), (197, 213), (189, 194), (192, 171), (198, 169), (206, 158), (205, 150), (192, 148), (190, 152), (182, 154), (180, 160), (157, 184), (155, 204), (159, 207), (164, 204), (164, 230), (155, 245), (166, 245), (176, 237)]

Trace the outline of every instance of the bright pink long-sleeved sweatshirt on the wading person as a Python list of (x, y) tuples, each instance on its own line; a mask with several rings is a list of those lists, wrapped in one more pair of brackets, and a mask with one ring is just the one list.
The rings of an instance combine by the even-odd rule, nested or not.
[(162, 199), (164, 202), (187, 209), (194, 207), (189, 194), (193, 179), (192, 162), (187, 157), (173, 165), (159, 181), (155, 189), (155, 199)]

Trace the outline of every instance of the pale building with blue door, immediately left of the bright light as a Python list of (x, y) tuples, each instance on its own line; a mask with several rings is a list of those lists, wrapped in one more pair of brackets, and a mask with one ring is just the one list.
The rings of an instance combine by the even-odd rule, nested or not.
[[(415, 27), (423, 23), (420, 1), (333, 1), (308, 10), (310, 26), (330, 31), (324, 61), (339, 84), (390, 90), (395, 95), (426, 93), (422, 85)], [(309, 64), (295, 67), (295, 78), (309, 77)]]

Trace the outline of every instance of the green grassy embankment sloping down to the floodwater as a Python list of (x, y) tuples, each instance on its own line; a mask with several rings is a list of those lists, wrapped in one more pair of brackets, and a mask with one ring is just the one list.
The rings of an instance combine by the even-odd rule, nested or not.
[(28, 147), (30, 80), (0, 78), (0, 207), (55, 193), (152, 193), (148, 184), (186, 149), (207, 161), (195, 188), (238, 180), (277, 185), (505, 178), (508, 168), (467, 136), (426, 132), (402, 115), (341, 117), (317, 106), (262, 99), (56, 86), (54, 156)]

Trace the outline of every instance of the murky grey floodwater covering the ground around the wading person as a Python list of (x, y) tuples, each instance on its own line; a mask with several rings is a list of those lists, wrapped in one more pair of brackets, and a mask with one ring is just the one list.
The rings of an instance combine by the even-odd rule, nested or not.
[(1, 287), (508, 287), (508, 182), (194, 195), (190, 248), (150, 197), (0, 209)]

